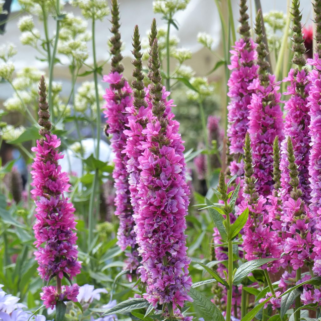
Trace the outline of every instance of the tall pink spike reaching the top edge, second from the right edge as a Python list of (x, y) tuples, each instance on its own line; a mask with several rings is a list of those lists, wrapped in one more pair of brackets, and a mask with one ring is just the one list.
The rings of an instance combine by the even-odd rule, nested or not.
[[(285, 102), (284, 110), (287, 110), (284, 125), (285, 136), (290, 136), (293, 139), (295, 163), (299, 170), (299, 187), (302, 190), (303, 200), (310, 203), (311, 187), (309, 184), (309, 152), (310, 152), (310, 136), (309, 124), (310, 115), (308, 114), (308, 91), (310, 83), (308, 80), (308, 69), (303, 68), (306, 64), (303, 56), (305, 52), (304, 40), (301, 32), (301, 18), (299, 11), (299, 0), (292, 1), (293, 16), (293, 45), (292, 50), (294, 55), (292, 63), (296, 64), (296, 68), (292, 68), (288, 77), (283, 82), (290, 82), (287, 87), (287, 92), (284, 94), (291, 95), (290, 99)], [(288, 158), (286, 155), (287, 140), (285, 139), (281, 144), (281, 197), (284, 203), (290, 197), (291, 185), (288, 170)]]

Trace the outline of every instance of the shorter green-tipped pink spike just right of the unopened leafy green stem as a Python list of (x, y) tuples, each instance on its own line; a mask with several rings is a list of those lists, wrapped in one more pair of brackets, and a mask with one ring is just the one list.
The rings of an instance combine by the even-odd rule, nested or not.
[[(249, 134), (245, 137), (244, 145), (244, 171), (245, 188), (247, 198), (242, 201), (240, 209), (249, 209), (249, 217), (244, 225), (243, 248), (245, 259), (254, 260), (258, 258), (281, 256), (281, 246), (276, 231), (270, 229), (269, 214), (266, 211), (266, 199), (259, 195), (255, 187), (255, 177), (251, 156), (251, 142)], [(283, 260), (273, 261), (262, 268), (267, 268), (275, 273), (278, 271)]]

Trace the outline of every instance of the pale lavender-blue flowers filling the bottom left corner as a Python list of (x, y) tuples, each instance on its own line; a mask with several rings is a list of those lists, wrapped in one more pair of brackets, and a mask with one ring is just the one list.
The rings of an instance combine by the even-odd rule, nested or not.
[(37, 315), (32, 316), (32, 313), (29, 311), (24, 311), (22, 308), (26, 306), (22, 303), (18, 303), (19, 298), (7, 294), (2, 290), (3, 285), (0, 284), (0, 319), (1, 320), (10, 320), (10, 321), (46, 321), (46, 317)]

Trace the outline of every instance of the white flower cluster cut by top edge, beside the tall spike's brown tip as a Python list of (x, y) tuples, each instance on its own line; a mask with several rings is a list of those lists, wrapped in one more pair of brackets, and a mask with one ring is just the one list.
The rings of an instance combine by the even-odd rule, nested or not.
[(109, 14), (106, 0), (71, 0), (71, 4), (81, 9), (85, 19), (102, 20)]

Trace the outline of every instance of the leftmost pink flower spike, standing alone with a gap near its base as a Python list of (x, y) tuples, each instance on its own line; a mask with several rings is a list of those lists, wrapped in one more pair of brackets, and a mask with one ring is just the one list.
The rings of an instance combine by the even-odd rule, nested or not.
[(78, 251), (75, 233), (74, 206), (68, 202), (64, 193), (69, 191), (67, 173), (61, 172), (58, 160), (64, 156), (58, 152), (60, 140), (51, 134), (48, 104), (46, 101), (46, 84), (44, 76), (39, 84), (39, 131), (43, 137), (37, 140), (36, 153), (32, 164), (32, 198), (36, 204), (35, 231), (39, 263), (39, 274), (46, 282), (56, 277), (57, 286), (43, 287), (41, 299), (47, 308), (54, 308), (57, 301), (77, 301), (78, 285), (61, 286), (61, 279), (68, 280), (80, 273), (81, 262), (77, 261)]

